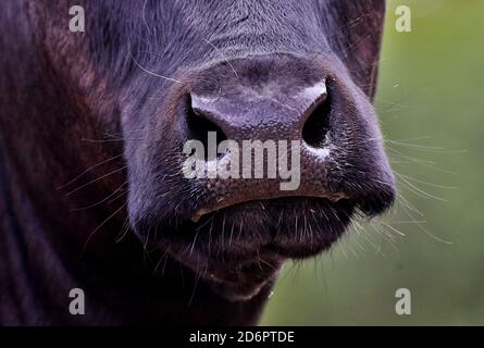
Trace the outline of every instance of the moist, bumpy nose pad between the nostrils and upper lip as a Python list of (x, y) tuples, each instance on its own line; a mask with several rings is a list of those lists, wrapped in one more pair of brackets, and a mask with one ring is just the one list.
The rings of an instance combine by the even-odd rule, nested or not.
[(211, 199), (199, 214), (287, 196), (340, 198), (325, 186), (326, 80), (288, 87), (235, 83), (191, 91), (188, 133), (207, 149), (201, 160)]

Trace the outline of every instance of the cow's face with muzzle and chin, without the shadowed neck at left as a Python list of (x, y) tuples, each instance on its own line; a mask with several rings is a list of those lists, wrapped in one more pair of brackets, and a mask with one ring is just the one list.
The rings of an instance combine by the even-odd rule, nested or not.
[[(392, 204), (371, 105), (383, 0), (84, 5), (85, 41), (69, 45), (120, 111), (131, 225), (218, 294), (252, 297), (284, 260)], [(232, 175), (210, 175), (221, 163)]]

